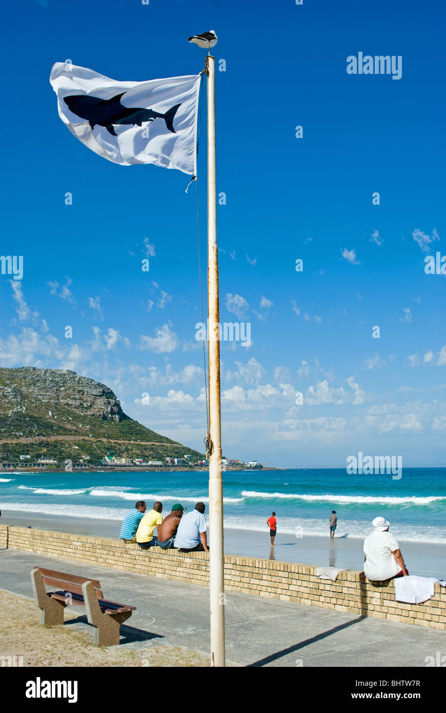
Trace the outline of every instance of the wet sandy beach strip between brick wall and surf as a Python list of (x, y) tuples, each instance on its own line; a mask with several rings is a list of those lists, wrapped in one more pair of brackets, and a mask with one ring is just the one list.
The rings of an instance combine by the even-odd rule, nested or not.
[[(120, 532), (120, 523), (117, 520), (25, 515), (13, 511), (2, 513), (0, 523), (20, 527), (31, 526), (34, 529), (56, 530), (78, 535), (97, 535), (103, 538), (118, 538)], [(400, 545), (410, 574), (439, 579), (446, 578), (446, 549), (444, 545), (403, 541)], [(274, 548), (271, 548), (267, 530), (265, 533), (258, 533), (252, 530), (226, 528), (224, 530), (224, 553), (308, 565), (331, 565), (352, 570), (361, 570), (364, 561), (362, 539), (335, 537), (334, 540), (330, 540), (328, 533), (326, 538), (304, 535), (300, 539), (294, 535), (279, 533)]]

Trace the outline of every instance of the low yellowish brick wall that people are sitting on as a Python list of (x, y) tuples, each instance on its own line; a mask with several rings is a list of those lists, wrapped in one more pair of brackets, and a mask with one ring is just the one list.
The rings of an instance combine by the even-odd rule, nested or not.
[[(138, 545), (120, 540), (0, 525), (0, 547), (6, 546), (115, 570), (209, 585), (207, 553), (187, 554), (157, 547), (142, 551)], [(234, 592), (446, 629), (446, 594), (444, 589), (440, 592), (438, 584), (435, 585), (435, 596), (424, 604), (405, 604), (395, 602), (393, 582), (373, 584), (356, 570), (341, 572), (336, 582), (332, 582), (316, 577), (316, 566), (313, 565), (232, 555), (224, 557), (224, 583), (227, 590)]]

